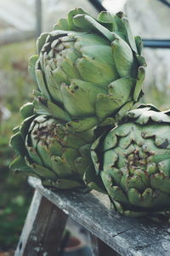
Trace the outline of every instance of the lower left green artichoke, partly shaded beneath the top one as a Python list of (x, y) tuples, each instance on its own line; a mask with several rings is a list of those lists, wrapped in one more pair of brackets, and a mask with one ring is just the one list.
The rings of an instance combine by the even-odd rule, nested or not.
[(10, 140), (19, 157), (10, 169), (39, 177), (48, 188), (86, 190), (84, 173), (91, 181), (94, 168), (90, 158), (94, 130), (68, 131), (63, 121), (34, 114), (32, 103), (27, 103), (20, 112), (24, 121), (14, 129)]

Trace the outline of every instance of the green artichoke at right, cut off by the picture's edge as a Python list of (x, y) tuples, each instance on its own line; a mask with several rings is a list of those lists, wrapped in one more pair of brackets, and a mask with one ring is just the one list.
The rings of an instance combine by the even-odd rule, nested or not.
[(96, 172), (122, 214), (170, 217), (169, 135), (170, 111), (141, 105), (93, 144)]

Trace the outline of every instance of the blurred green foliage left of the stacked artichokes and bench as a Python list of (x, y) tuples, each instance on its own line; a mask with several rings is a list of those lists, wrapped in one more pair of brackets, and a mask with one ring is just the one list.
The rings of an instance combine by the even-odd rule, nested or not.
[(36, 89), (27, 71), (28, 59), (35, 51), (33, 40), (0, 48), (0, 106), (10, 111), (8, 119), (0, 120), (0, 251), (16, 247), (31, 203), (27, 178), (8, 170), (14, 159), (8, 141), (14, 126), (20, 124), (20, 107), (31, 101), (32, 89)]

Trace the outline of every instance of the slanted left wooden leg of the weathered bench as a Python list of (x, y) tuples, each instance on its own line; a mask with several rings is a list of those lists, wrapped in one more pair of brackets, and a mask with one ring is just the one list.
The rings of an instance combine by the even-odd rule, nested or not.
[(67, 215), (37, 190), (14, 256), (57, 255)]

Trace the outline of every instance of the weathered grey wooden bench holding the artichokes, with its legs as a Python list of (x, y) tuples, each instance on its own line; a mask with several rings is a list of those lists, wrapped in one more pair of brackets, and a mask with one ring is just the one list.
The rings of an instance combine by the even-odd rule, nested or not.
[(105, 242), (105, 250), (109, 246), (116, 251), (111, 253), (110, 248), (110, 253), (103, 256), (170, 255), (168, 224), (154, 224), (141, 218), (125, 218), (111, 210), (107, 195), (96, 191), (88, 194), (71, 191), (54, 193), (44, 189), (37, 178), (30, 177), (29, 183), (35, 188), (35, 194), (15, 256), (57, 255), (68, 215), (93, 234), (95, 256), (101, 255), (96, 246), (98, 241)]

